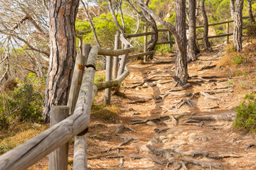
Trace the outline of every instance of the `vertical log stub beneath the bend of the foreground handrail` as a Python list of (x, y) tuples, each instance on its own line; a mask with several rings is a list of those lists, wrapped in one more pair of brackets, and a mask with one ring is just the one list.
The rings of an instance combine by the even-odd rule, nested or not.
[(75, 136), (73, 170), (87, 170), (86, 134)]

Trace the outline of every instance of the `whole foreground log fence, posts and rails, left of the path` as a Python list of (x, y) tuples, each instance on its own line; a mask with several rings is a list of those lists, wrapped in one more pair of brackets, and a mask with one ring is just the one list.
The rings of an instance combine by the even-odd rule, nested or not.
[[(67, 147), (68, 142), (73, 137), (75, 137), (73, 169), (87, 169), (85, 134), (90, 122), (92, 101), (94, 101), (97, 90), (119, 86), (129, 75), (126, 68), (127, 56), (130, 52), (134, 52), (135, 48), (122, 35), (119, 36), (118, 40), (124, 44), (125, 49), (118, 49), (117, 47), (115, 50), (109, 50), (96, 46), (90, 49), (90, 45), (80, 45), (80, 55), (76, 59), (68, 106), (52, 106), (50, 118), (53, 120), (50, 120), (50, 128), (2, 154), (0, 156), (0, 169), (28, 169), (29, 166), (48, 154), (50, 154), (50, 170), (68, 169)], [(117, 79), (102, 84), (94, 84), (97, 55), (115, 57), (122, 55)], [(109, 62), (112, 62), (111, 58)], [(111, 77), (110, 71), (107, 74)], [(67, 116), (68, 118), (65, 118)]]

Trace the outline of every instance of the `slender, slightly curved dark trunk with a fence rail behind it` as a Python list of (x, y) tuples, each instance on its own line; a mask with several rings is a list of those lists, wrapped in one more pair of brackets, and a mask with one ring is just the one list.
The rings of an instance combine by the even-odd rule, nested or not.
[(205, 46), (206, 50), (213, 51), (213, 49), (210, 47), (210, 43), (208, 40), (208, 17), (206, 15), (206, 10), (204, 8), (204, 2), (205, 0), (201, 0), (201, 12), (203, 15), (203, 24), (204, 24), (203, 45)]

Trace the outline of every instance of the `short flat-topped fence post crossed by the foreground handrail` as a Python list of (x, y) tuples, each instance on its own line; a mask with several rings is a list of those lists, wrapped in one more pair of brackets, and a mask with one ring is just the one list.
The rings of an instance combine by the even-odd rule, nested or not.
[[(51, 106), (50, 127), (68, 117), (68, 106)], [(68, 169), (68, 142), (50, 153), (49, 170)]]

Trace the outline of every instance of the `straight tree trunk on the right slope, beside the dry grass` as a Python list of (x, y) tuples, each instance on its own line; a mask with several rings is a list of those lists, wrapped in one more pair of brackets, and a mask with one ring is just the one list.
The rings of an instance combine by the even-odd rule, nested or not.
[(234, 16), (234, 45), (237, 52), (242, 52), (242, 7), (243, 1), (235, 1), (235, 16)]

